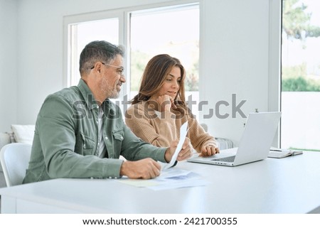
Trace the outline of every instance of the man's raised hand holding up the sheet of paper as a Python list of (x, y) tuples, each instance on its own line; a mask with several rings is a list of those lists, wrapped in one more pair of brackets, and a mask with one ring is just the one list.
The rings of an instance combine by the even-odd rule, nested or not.
[[(176, 147), (178, 146), (178, 140), (173, 141), (170, 144), (170, 147), (166, 150), (166, 153), (164, 154), (164, 158), (166, 159), (166, 162), (170, 162), (172, 156), (174, 156), (174, 151), (176, 151)], [(187, 158), (191, 157), (191, 151), (192, 151), (192, 146), (190, 143), (190, 139), (186, 137), (181, 151), (178, 153), (178, 157), (176, 158), (177, 161), (183, 161), (186, 160)]]

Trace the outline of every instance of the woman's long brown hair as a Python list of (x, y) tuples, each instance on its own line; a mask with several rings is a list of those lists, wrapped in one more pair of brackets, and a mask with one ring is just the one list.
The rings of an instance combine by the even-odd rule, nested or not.
[[(179, 67), (181, 71), (181, 81), (177, 96), (174, 99), (178, 112), (191, 113), (186, 107), (186, 97), (184, 90), (184, 80), (186, 78), (186, 70), (181, 65), (180, 60), (171, 57), (170, 55), (162, 54), (151, 58), (146, 64), (142, 75), (142, 82), (139, 88), (139, 93), (130, 101), (131, 104), (137, 104), (142, 101), (147, 101), (153, 94), (156, 94), (164, 85), (166, 77), (170, 74), (173, 67)], [(183, 110), (181, 110), (181, 108)]]

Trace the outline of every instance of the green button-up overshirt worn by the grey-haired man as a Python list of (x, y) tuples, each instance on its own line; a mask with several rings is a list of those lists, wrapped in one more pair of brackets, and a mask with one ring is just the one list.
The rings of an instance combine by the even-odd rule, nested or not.
[(99, 150), (99, 106), (85, 82), (80, 80), (78, 87), (50, 94), (38, 114), (23, 183), (52, 178), (119, 178), (120, 155), (129, 161), (149, 157), (166, 162), (166, 148), (137, 138), (124, 124), (117, 105), (107, 99), (102, 109), (106, 158), (95, 156)]

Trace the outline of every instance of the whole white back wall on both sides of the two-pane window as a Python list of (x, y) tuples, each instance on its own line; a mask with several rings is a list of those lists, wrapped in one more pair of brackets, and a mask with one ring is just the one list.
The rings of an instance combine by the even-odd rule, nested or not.
[[(3, 1), (0, 0), (0, 2)], [(233, 93), (237, 94), (238, 102), (242, 99), (247, 100), (242, 106), (245, 114), (254, 111), (255, 108), (261, 112), (270, 109), (270, 91), (274, 91), (274, 89), (270, 90), (270, 56), (272, 54), (270, 50), (274, 45), (270, 41), (272, 40), (270, 34), (274, 36), (274, 28), (270, 21), (272, 13), (277, 12), (279, 1), (201, 0), (200, 92), (201, 99), (209, 102), (206, 109), (214, 108), (215, 103), (220, 100), (231, 103)], [(16, 83), (17, 89), (14, 91), (17, 91), (16, 99), (19, 102), (16, 102), (18, 112), (14, 112), (17, 116), (10, 116), (8, 124), (14, 120), (18, 124), (34, 124), (43, 99), (49, 93), (63, 87), (63, 16), (164, 1), (28, 0), (17, 2), (18, 40), (14, 41), (14, 34), (10, 34), (6, 39), (13, 40), (12, 46), (14, 43), (18, 44), (18, 58), (16, 58), (18, 76), (16, 81), (11, 82), (10, 89), (15, 89)], [(14, 11), (13, 6), (7, 5), (7, 9)], [(14, 16), (6, 14), (6, 18), (16, 18), (16, 11)], [(277, 31), (275, 34), (277, 35)], [(1, 53), (0, 58), (3, 58)], [(4, 67), (0, 66), (1, 72), (3, 69)], [(7, 67), (6, 72), (8, 72)], [(1, 76), (0, 80), (3, 87), (4, 77)], [(9, 89), (6, 88), (6, 90)], [(7, 105), (8, 102), (1, 100), (1, 107), (3, 104)], [(15, 111), (16, 105), (11, 104), (11, 108)], [(230, 107), (221, 110), (222, 114), (225, 112), (230, 112)], [(6, 114), (6, 116), (9, 115)], [(236, 142), (240, 139), (244, 119), (239, 118), (239, 115), (236, 119), (230, 117), (218, 119), (213, 116), (203, 121), (209, 124), (209, 131), (214, 136), (227, 137)]]

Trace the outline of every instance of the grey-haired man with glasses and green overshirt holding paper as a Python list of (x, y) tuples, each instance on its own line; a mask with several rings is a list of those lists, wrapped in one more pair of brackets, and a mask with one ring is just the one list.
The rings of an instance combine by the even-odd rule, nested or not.
[[(155, 178), (169, 162), (178, 141), (169, 148), (151, 146), (124, 124), (110, 98), (119, 96), (124, 51), (106, 41), (93, 41), (80, 54), (77, 87), (50, 94), (38, 114), (31, 161), (23, 183), (52, 178)], [(183, 143), (178, 161), (191, 156)], [(124, 156), (126, 161), (119, 159)]]

